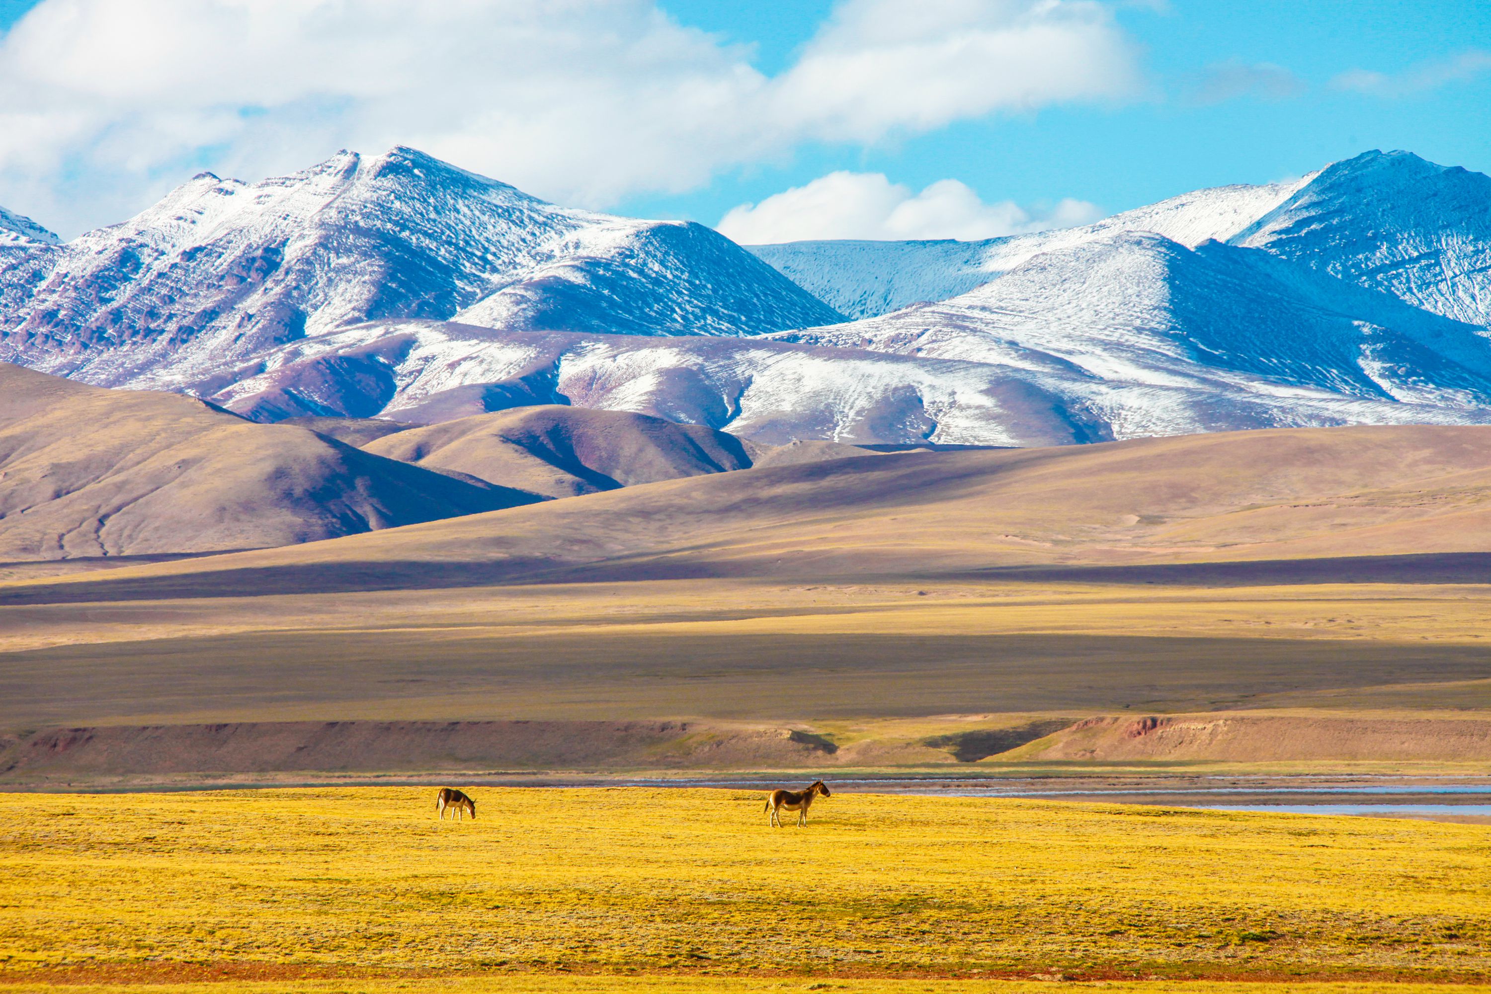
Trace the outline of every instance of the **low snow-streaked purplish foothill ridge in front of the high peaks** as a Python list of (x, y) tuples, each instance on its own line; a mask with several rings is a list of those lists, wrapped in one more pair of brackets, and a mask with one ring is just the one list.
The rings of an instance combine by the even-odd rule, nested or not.
[[(297, 414), (446, 422), (573, 404), (707, 425), (766, 444), (938, 441), (1066, 444), (1102, 428), (1018, 370), (756, 338), (511, 332), (373, 322), (279, 349), (212, 401), (255, 420)], [(349, 398), (327, 389), (355, 371)], [(364, 398), (374, 398), (367, 401)], [(349, 399), (355, 405), (349, 404)]]

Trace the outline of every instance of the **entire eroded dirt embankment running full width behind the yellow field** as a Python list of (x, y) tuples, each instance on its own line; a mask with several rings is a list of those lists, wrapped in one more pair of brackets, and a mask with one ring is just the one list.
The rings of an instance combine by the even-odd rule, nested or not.
[(978, 718), (947, 715), (917, 730), (850, 733), (683, 720), (70, 727), (0, 735), (0, 784), (198, 773), (828, 770), (1074, 760), (1491, 763), (1491, 717)]

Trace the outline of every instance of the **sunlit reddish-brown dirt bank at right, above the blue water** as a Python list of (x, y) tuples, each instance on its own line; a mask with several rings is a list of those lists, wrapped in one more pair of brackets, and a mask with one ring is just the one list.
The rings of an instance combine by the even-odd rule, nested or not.
[(1087, 718), (999, 760), (1491, 762), (1491, 718), (1191, 714)]

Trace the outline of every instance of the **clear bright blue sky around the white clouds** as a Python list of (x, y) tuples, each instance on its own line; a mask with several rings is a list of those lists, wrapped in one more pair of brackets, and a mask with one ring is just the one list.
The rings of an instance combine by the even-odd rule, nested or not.
[[(757, 3), (740, 16), (711, 0), (663, 0), (687, 24), (757, 46), (780, 66), (811, 37), (826, 1)], [(1105, 212), (1188, 189), (1300, 176), (1370, 148), (1491, 171), (1491, 66), (1402, 95), (1331, 86), (1352, 70), (1412, 73), (1464, 52), (1491, 52), (1491, 3), (1476, 0), (1169, 0), (1117, 10), (1144, 48), (1154, 92), (1115, 107), (1048, 107), (990, 116), (877, 148), (799, 149), (786, 168), (722, 176), (684, 197), (644, 197), (640, 213), (713, 219), (835, 168), (874, 170), (914, 188), (954, 177), (986, 200), (1078, 197)], [(1293, 94), (1208, 101), (1215, 67), (1273, 64)]]

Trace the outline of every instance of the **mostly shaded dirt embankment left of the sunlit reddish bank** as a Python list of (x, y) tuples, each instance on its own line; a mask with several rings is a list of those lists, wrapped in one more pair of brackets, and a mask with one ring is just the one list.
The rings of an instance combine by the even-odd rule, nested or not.
[(1068, 718), (850, 736), (707, 721), (242, 721), (0, 735), (0, 782), (131, 775), (728, 770), (966, 763)]

